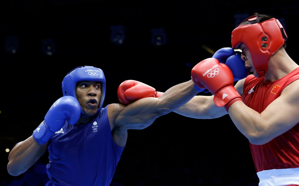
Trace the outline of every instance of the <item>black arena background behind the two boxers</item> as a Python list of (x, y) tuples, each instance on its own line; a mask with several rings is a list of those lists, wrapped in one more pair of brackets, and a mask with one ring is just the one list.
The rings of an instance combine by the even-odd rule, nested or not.
[[(296, 61), (297, 2), (258, 3), (0, 1), (0, 184), (44, 185), (39, 180), (47, 178), (47, 154), (14, 177), (7, 173), (5, 149), (32, 134), (62, 96), (61, 81), (75, 67), (104, 71), (104, 105), (119, 102), (117, 88), (128, 79), (164, 92), (188, 81), (195, 64), (231, 47), (231, 31), (254, 12), (280, 20), (289, 37), (287, 52)], [(121, 45), (110, 39), (115, 25), (125, 28)], [(167, 40), (160, 47), (151, 42), (154, 28), (165, 30)], [(5, 47), (10, 37), (17, 38), (16, 53)], [(48, 39), (55, 43), (51, 56), (43, 53)], [(170, 113), (128, 133), (112, 186), (258, 185), (248, 140), (228, 115), (202, 120)]]

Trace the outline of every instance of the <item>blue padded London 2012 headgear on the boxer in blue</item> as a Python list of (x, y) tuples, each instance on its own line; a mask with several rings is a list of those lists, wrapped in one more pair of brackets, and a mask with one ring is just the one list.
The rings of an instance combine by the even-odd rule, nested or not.
[[(101, 99), (98, 111), (103, 107), (105, 94), (106, 94), (106, 79), (104, 72), (100, 68), (93, 66), (77, 67), (69, 72), (62, 81), (62, 94), (63, 96), (70, 95), (77, 99), (76, 84), (79, 81), (100, 81), (101, 82)], [(81, 109), (81, 113), (83, 111)]]

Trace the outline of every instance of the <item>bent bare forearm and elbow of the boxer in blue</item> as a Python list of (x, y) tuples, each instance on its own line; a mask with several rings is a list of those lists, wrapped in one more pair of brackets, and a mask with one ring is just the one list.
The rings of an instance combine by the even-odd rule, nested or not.
[(17, 143), (8, 155), (8, 173), (13, 176), (24, 173), (45, 153), (46, 145), (38, 144), (32, 136)]

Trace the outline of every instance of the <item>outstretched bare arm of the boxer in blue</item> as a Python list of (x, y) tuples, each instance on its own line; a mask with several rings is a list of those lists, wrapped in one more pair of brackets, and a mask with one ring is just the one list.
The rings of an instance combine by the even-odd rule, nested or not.
[(127, 105), (114, 123), (123, 130), (146, 128), (158, 117), (184, 105), (197, 93), (192, 80), (180, 83), (169, 88), (159, 97), (146, 97)]

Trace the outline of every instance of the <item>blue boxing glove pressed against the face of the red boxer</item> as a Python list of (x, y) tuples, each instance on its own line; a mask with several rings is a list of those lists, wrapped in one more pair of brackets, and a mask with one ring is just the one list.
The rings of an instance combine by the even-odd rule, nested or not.
[(234, 81), (239, 81), (249, 74), (248, 70), (245, 68), (244, 61), (241, 59), (240, 51), (225, 47), (217, 50), (212, 58), (218, 59), (220, 63), (224, 63), (230, 68), (234, 76)]

